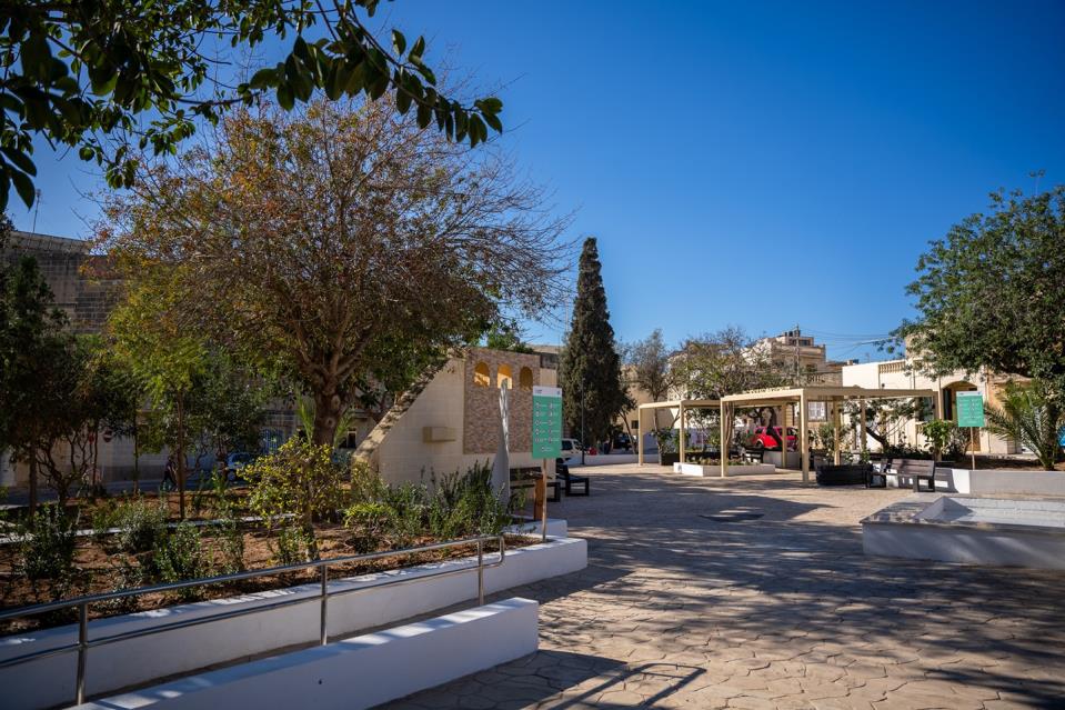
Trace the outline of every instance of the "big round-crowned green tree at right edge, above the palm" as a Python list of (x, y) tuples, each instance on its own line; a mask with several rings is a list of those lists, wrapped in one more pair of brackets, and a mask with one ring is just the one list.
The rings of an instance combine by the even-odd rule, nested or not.
[(917, 261), (918, 318), (897, 336), (933, 374), (986, 368), (1045, 381), (1065, 404), (1065, 186), (991, 196)]

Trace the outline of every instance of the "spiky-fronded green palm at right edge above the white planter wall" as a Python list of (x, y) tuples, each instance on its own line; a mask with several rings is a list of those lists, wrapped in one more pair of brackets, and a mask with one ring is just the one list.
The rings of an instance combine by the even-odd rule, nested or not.
[(987, 430), (1017, 441), (1035, 451), (1047, 471), (1063, 460), (1059, 432), (1065, 428), (1065, 408), (1048, 391), (1046, 383), (1008, 383), (1002, 406), (985, 406)]

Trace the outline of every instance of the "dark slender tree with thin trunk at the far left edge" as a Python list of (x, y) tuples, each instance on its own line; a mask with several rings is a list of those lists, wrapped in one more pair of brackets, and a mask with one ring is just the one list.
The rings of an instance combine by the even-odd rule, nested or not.
[(0, 270), (0, 451), (29, 464), (31, 511), (38, 502), (37, 452), (62, 417), (63, 371), (57, 364), (70, 347), (66, 324), (36, 259), (22, 257)]

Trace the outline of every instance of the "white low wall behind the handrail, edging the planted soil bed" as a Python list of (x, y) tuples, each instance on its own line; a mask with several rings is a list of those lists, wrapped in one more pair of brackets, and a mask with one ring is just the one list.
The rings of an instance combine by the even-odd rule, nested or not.
[[(385, 578), (414, 579), (444, 569), (469, 568), (473, 561), (474, 558), (450, 560), (331, 582), (330, 590), (363, 591), (330, 598), (329, 631), (332, 634), (352, 633), (473, 599), (476, 597), (475, 569), (465, 574), (439, 577), (415, 584), (372, 587)], [(554, 539), (509, 550), (501, 567), (484, 570), (484, 587), (491, 593), (585, 567), (587, 546), (584, 540)], [(200, 619), (219, 610), (261, 607), (279, 599), (317, 600), (318, 596), (318, 584), (302, 584), (100, 619), (89, 624), (89, 638)], [(88, 653), (87, 692), (90, 696), (111, 692), (213, 663), (313, 641), (319, 636), (319, 604), (312, 601), (91, 649)], [(52, 649), (76, 640), (76, 626), (4, 637), (0, 639), (0, 659)], [(2, 704), (39, 709), (70, 702), (74, 696), (76, 664), (77, 653), (64, 653), (0, 670)]]

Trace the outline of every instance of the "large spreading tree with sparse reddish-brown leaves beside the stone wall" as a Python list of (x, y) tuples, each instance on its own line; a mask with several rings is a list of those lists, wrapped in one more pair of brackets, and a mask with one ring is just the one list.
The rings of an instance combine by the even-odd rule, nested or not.
[(504, 309), (555, 302), (567, 220), (476, 153), (389, 101), (239, 110), (113, 196), (102, 242), (132, 281), (168, 280), (153, 307), (174, 337), (275, 363), (331, 443), (360, 398), (402, 391)]

